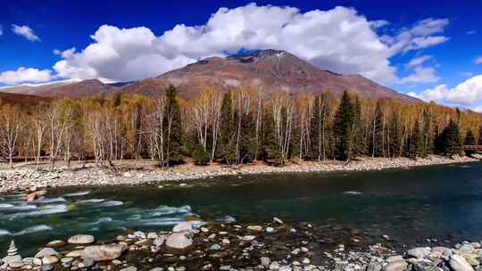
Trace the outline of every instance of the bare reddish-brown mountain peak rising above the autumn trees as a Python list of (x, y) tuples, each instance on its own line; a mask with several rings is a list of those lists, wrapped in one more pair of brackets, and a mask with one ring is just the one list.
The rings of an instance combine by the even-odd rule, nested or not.
[(404, 103), (419, 101), (361, 75), (341, 75), (321, 70), (292, 53), (263, 50), (227, 58), (210, 57), (157, 78), (140, 80), (121, 88), (125, 93), (155, 94), (165, 86), (178, 87), (179, 94), (191, 98), (204, 86), (227, 90), (233, 86), (261, 87), (268, 93), (286, 90), (293, 94), (316, 94), (328, 91), (341, 96), (345, 90), (365, 99), (389, 98)]

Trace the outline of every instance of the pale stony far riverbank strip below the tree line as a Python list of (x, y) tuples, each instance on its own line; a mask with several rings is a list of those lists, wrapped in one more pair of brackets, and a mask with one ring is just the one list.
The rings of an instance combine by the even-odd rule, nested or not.
[(0, 194), (16, 191), (37, 190), (59, 186), (78, 185), (146, 185), (156, 182), (186, 182), (220, 176), (252, 175), (263, 173), (366, 171), (387, 168), (411, 168), (453, 163), (478, 161), (475, 158), (432, 155), (427, 159), (407, 158), (384, 159), (362, 158), (350, 163), (341, 161), (302, 161), (285, 167), (271, 167), (265, 164), (245, 165), (229, 168), (221, 165), (195, 166), (186, 164), (169, 169), (156, 168), (151, 161), (127, 160), (115, 163), (115, 168), (96, 168), (94, 164), (72, 168), (62, 166), (54, 171), (37, 171), (34, 165), (15, 165), (13, 169), (0, 169)]

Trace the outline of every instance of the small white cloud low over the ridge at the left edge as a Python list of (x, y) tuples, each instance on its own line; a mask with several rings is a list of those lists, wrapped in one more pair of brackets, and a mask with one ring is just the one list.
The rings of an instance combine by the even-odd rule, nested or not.
[(52, 70), (37, 70), (33, 68), (19, 68), (0, 73), (0, 84), (16, 85), (23, 82), (39, 83), (52, 80)]

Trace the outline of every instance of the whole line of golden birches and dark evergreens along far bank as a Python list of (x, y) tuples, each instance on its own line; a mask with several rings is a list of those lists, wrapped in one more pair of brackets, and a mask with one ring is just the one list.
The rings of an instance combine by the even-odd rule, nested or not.
[[(362, 100), (345, 92), (265, 94), (206, 86), (190, 100), (174, 86), (154, 97), (115, 93), (22, 108), (0, 103), (0, 153), (14, 160), (151, 159), (169, 167), (193, 158), (241, 165), (288, 160), (462, 154), (482, 144), (482, 117), (435, 103)], [(471, 154), (471, 153), (468, 153)]]

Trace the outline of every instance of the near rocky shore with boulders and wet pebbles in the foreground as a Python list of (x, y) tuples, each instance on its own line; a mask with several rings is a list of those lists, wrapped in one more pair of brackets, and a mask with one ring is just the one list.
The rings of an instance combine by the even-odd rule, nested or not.
[(12, 242), (0, 270), (480, 270), (480, 242), (438, 242), (406, 251), (388, 236), (370, 245), (355, 229), (300, 223), (208, 224), (187, 218), (169, 232), (129, 231), (96, 242), (79, 234), (55, 240), (22, 258)]

